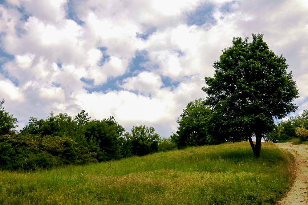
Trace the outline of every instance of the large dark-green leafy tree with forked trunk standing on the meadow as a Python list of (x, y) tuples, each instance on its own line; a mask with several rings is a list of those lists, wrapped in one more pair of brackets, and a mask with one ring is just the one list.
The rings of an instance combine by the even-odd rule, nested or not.
[[(261, 138), (272, 131), (274, 120), (294, 112), (298, 96), (286, 58), (275, 55), (263, 41), (263, 35), (233, 38), (214, 62), (214, 77), (206, 77), (206, 104), (214, 110), (225, 135), (230, 139), (248, 139), (256, 157), (260, 156)], [(256, 143), (252, 141), (256, 137)]]

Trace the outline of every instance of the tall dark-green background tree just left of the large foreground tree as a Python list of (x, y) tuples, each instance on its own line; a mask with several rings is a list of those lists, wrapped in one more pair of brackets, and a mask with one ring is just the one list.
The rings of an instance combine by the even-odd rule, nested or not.
[(205, 100), (200, 98), (187, 104), (180, 118), (176, 134), (171, 138), (178, 148), (187, 146), (198, 146), (209, 143), (210, 136), (208, 133), (208, 123), (212, 111), (205, 106)]

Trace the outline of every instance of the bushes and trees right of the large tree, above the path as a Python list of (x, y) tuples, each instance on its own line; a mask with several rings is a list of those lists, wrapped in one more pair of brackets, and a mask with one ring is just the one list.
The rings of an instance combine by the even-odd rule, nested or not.
[(294, 138), (298, 138), (300, 141), (308, 140), (308, 109), (305, 109), (301, 115), (279, 122), (274, 130), (266, 136), (266, 139), (274, 143)]

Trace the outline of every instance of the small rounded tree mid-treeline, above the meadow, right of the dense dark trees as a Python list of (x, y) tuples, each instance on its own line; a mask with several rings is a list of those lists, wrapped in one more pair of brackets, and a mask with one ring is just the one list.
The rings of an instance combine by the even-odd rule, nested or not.
[(125, 134), (128, 144), (131, 148), (132, 155), (148, 155), (158, 151), (159, 135), (155, 133), (153, 127), (145, 125), (134, 126), (132, 134)]

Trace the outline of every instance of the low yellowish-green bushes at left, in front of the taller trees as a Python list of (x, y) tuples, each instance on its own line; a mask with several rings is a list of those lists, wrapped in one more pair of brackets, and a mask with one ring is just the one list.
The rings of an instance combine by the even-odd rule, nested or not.
[(66, 136), (1, 135), (0, 151), (0, 169), (37, 170), (96, 161)]

